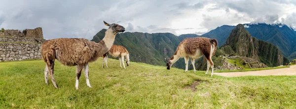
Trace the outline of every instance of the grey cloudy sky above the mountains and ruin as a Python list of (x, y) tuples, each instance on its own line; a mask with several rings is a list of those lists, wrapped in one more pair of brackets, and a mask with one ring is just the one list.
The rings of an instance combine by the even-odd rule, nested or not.
[(92, 37), (103, 20), (134, 32), (203, 34), (222, 25), (296, 28), (296, 0), (1, 0), (0, 28), (42, 27), (45, 39)]

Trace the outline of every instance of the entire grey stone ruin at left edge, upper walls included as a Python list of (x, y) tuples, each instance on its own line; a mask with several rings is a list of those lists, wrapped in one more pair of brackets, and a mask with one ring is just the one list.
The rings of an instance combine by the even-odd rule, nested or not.
[(0, 31), (0, 61), (41, 59), (42, 28)]

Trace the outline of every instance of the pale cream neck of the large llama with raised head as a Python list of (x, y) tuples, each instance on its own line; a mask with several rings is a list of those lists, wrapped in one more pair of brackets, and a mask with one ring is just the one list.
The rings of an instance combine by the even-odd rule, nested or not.
[(108, 50), (111, 48), (111, 46), (114, 43), (115, 35), (116, 33), (114, 34), (110, 28), (107, 29), (105, 32), (105, 37), (103, 38), (103, 41), (105, 42), (105, 45), (108, 48)]

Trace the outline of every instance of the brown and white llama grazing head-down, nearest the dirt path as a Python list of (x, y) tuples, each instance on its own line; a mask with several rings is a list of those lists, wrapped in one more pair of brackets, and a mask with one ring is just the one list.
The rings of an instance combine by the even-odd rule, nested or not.
[(188, 61), (189, 57), (191, 59), (191, 64), (193, 65), (194, 72), (194, 59), (200, 58), (202, 55), (205, 55), (207, 59), (207, 71), (208, 74), (209, 68), (212, 68), (212, 74), (214, 72), (214, 63), (212, 61), (212, 56), (215, 54), (217, 49), (218, 41), (216, 39), (210, 39), (206, 37), (194, 37), (184, 39), (178, 46), (175, 54), (170, 60), (165, 58), (167, 61), (167, 69), (170, 70), (170, 67), (179, 59), (185, 59), (185, 72), (188, 71)]

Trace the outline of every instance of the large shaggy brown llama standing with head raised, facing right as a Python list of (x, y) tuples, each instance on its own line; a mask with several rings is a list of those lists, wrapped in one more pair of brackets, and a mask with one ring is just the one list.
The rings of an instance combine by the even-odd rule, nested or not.
[(54, 79), (54, 61), (57, 59), (60, 63), (67, 66), (76, 67), (75, 88), (78, 89), (78, 81), (84, 68), (86, 84), (91, 87), (88, 80), (88, 63), (96, 61), (101, 55), (109, 51), (113, 45), (115, 35), (118, 32), (124, 32), (125, 28), (118, 24), (104, 24), (109, 28), (105, 32), (105, 37), (99, 43), (89, 41), (84, 38), (57, 38), (47, 40), (41, 46), (41, 56), (46, 63), (44, 69), (45, 83), (48, 84), (48, 73), (55, 88), (58, 88)]

